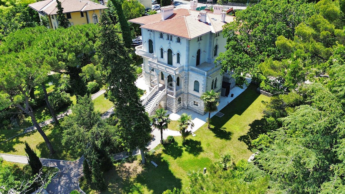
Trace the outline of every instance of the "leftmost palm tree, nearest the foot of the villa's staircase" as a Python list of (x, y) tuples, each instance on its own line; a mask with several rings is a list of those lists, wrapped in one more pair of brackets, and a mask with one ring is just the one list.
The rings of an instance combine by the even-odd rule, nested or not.
[(163, 130), (168, 128), (170, 123), (169, 114), (164, 108), (158, 108), (155, 112), (155, 115), (151, 116), (152, 125), (160, 130), (160, 143), (163, 144)]

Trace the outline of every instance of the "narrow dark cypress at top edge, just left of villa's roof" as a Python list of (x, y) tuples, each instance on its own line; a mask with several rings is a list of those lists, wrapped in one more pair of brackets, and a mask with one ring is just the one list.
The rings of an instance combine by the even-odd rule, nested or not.
[(132, 44), (132, 39), (131, 39), (131, 31), (126, 19), (126, 16), (124, 14), (124, 11), (122, 10), (122, 0), (111, 0), (111, 2), (114, 4), (117, 17), (121, 26), (121, 31), (122, 31), (122, 39), (124, 40), (125, 46), (127, 48), (130, 48)]

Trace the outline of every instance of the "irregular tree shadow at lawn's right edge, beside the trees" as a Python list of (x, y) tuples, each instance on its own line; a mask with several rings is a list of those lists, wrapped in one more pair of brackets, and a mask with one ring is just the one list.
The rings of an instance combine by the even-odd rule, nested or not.
[(258, 138), (260, 134), (266, 133), (267, 130), (265, 129), (265, 125), (267, 124), (266, 119), (262, 118), (260, 120), (254, 120), (251, 124), (249, 124), (250, 129), (246, 135), (242, 135), (238, 138), (238, 140), (247, 144), (248, 148), (252, 150), (254, 146), (252, 146), (252, 140)]

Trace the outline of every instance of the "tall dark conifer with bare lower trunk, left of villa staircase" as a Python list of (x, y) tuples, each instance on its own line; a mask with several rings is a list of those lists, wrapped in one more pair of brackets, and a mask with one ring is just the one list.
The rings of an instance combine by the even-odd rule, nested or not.
[(145, 163), (144, 151), (151, 139), (152, 128), (134, 84), (136, 76), (131, 66), (132, 59), (107, 14), (102, 14), (100, 25), (100, 45), (97, 52), (109, 84), (108, 97), (115, 105), (120, 138), (128, 151), (139, 148), (142, 163)]

